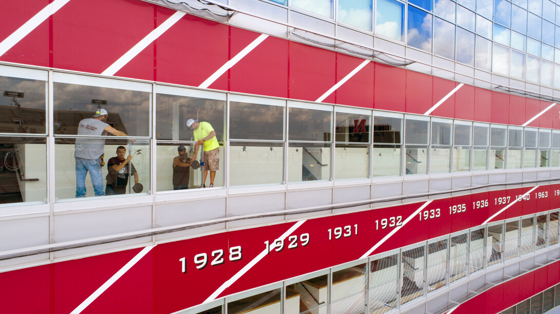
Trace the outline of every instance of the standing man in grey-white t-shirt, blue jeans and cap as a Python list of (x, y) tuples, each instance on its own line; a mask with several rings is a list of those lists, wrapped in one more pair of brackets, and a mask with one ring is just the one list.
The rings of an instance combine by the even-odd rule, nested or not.
[[(78, 135), (101, 136), (111, 133), (117, 136), (127, 136), (113, 126), (106, 123), (107, 110), (98, 109), (91, 118), (83, 119), (78, 125)], [(105, 139), (78, 138), (76, 139), (76, 198), (86, 197), (86, 175), (90, 172), (91, 184), (94, 185), (95, 196), (103, 196), (103, 176), (101, 175), (101, 155), (105, 148)]]

